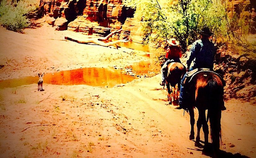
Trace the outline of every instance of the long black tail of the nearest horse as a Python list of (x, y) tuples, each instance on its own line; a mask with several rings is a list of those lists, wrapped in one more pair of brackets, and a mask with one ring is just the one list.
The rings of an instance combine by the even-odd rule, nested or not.
[(209, 108), (207, 118), (210, 121), (210, 131), (213, 147), (219, 149), (221, 142), (221, 109), (219, 98), (219, 86), (217, 81), (210, 79), (206, 86), (206, 91), (209, 94)]

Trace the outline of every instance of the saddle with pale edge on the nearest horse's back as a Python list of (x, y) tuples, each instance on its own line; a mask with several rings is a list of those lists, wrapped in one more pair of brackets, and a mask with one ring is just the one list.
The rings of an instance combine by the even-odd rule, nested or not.
[(186, 84), (186, 85), (190, 84), (193, 77), (196, 74), (201, 73), (201, 72), (212, 72), (212, 73), (216, 74), (221, 79), (223, 86), (226, 86), (225, 80), (217, 72), (214, 72), (213, 70), (211, 70), (209, 68), (196, 68), (192, 71), (186, 72), (186, 78), (184, 80), (184, 84)]

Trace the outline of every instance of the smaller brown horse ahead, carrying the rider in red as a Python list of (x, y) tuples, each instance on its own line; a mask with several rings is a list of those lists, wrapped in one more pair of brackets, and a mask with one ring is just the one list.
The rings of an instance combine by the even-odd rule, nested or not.
[[(172, 100), (178, 101), (180, 82), (185, 73), (186, 73), (186, 67), (183, 64), (177, 63), (177, 62), (172, 62), (168, 64), (166, 87), (168, 91), (167, 98), (168, 98), (169, 104), (172, 104)], [(178, 89), (176, 90), (177, 84), (178, 84)]]

